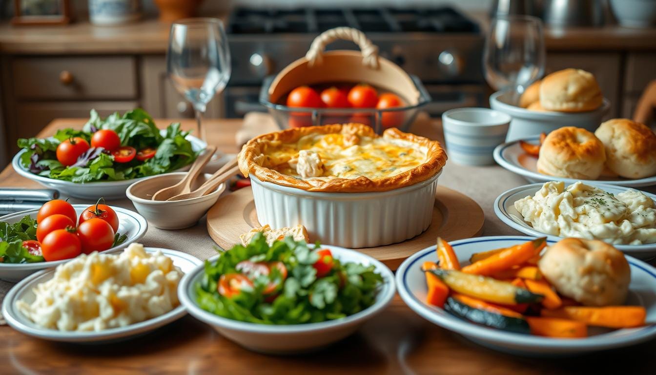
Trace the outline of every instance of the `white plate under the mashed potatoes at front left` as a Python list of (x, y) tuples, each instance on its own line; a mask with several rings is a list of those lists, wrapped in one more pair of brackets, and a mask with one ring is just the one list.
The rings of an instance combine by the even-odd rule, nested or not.
[[(146, 248), (146, 251), (149, 253), (154, 253), (157, 250), (173, 259), (173, 264), (176, 265), (176, 267), (180, 267), (180, 270), (183, 273), (188, 273), (195, 269), (195, 267), (198, 265), (203, 264), (203, 261), (197, 257), (194, 257), (194, 255), (176, 252), (169, 249)], [(98, 332), (66, 332), (49, 330), (41, 326), (37, 326), (37, 324), (34, 324), (34, 322), (28, 319), (28, 317), (18, 311), (18, 309), (16, 309), (16, 301), (19, 299), (24, 299), (28, 303), (34, 301), (35, 296), (32, 292), (33, 288), (41, 282), (50, 280), (52, 276), (54, 276), (54, 269), (35, 273), (29, 278), (26, 278), (25, 280), (22, 280), (16, 284), (13, 288), (11, 288), (9, 293), (7, 293), (7, 296), (5, 296), (5, 300), (3, 301), (2, 313), (7, 320), (7, 323), (12, 326), (12, 328), (26, 335), (41, 338), (43, 340), (75, 343), (108, 343), (116, 342), (119, 340), (127, 340), (128, 338), (146, 334), (152, 330), (155, 330), (156, 328), (184, 317), (184, 315), (187, 313), (182, 305), (178, 305), (178, 307), (174, 308), (168, 313), (160, 315), (159, 317), (130, 324), (129, 326), (121, 328), (110, 328), (108, 330), (102, 330)]]

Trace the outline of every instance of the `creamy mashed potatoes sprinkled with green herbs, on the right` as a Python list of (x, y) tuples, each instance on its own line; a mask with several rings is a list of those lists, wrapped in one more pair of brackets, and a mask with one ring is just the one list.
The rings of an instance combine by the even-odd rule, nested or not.
[(514, 204), (537, 231), (610, 244), (656, 243), (656, 205), (637, 190), (611, 194), (580, 181), (544, 183), (535, 196)]

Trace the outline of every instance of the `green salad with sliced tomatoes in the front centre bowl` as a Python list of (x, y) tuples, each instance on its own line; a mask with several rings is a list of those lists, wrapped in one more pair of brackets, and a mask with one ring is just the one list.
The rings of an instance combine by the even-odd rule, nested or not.
[(195, 289), (197, 303), (228, 319), (261, 324), (323, 322), (373, 305), (382, 276), (373, 265), (342, 263), (319, 244), (291, 237), (268, 246), (256, 234), (214, 262)]

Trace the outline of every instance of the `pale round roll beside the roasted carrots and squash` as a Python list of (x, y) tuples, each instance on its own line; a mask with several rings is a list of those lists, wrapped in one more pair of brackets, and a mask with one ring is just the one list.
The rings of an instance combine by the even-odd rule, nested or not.
[(546, 250), (538, 267), (558, 293), (583, 305), (625, 303), (631, 281), (628, 261), (603, 241), (565, 238)]

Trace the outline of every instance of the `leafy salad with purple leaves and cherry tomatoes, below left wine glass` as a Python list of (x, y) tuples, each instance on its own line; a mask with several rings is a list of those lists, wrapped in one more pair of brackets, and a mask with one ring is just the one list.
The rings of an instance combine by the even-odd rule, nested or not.
[(137, 108), (105, 119), (91, 110), (82, 130), (60, 129), (47, 139), (19, 139), (26, 150), (20, 164), (36, 175), (89, 183), (121, 181), (166, 173), (193, 162), (197, 153), (187, 131), (172, 123), (164, 135)]

